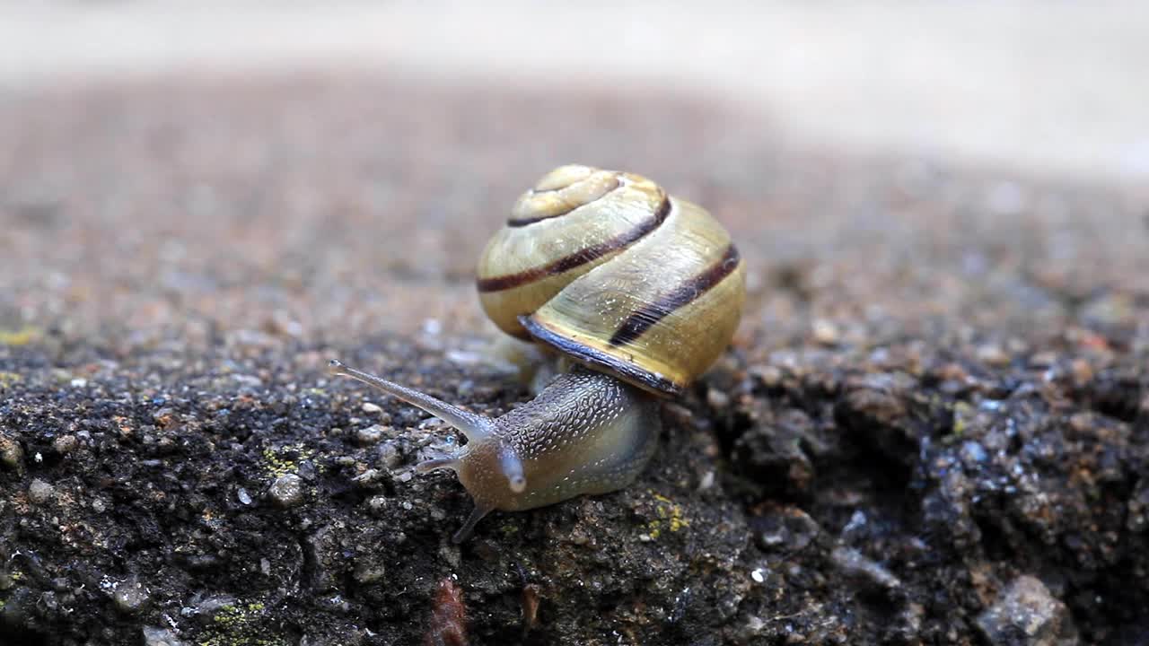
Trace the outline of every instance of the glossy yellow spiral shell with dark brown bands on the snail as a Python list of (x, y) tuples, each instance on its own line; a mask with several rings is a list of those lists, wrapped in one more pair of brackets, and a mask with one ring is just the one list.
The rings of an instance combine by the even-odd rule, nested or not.
[(677, 394), (730, 344), (746, 272), (702, 207), (639, 175), (564, 166), (515, 203), (477, 284), (504, 332)]

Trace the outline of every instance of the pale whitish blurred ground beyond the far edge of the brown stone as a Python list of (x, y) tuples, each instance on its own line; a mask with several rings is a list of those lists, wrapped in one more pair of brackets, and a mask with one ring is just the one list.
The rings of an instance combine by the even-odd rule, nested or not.
[(357, 69), (649, 86), (799, 141), (1143, 183), (1149, 3), (40, 2), (0, 8), (0, 91)]

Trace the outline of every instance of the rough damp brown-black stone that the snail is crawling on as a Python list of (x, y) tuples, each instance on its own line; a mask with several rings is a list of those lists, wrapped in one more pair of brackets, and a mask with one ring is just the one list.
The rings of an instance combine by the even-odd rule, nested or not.
[[(0, 140), (11, 643), (1149, 635), (1143, 192), (847, 157), (681, 97), (338, 75), (8, 93)], [(573, 161), (714, 212), (743, 323), (633, 486), (454, 545), (470, 500), (414, 466), (460, 439), (326, 364), (525, 401), (461, 232)]]

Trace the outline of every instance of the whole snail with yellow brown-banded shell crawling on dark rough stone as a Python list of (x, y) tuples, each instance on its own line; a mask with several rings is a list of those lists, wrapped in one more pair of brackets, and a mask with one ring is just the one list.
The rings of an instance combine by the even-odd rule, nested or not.
[(745, 269), (702, 207), (629, 172), (564, 166), (515, 203), (478, 264), (484, 310), (508, 334), (574, 366), (499, 418), (338, 361), (466, 437), (419, 472), (452, 469), (475, 500), (454, 536), (493, 509), (531, 509), (627, 486), (654, 454), (661, 398), (722, 354), (741, 316)]

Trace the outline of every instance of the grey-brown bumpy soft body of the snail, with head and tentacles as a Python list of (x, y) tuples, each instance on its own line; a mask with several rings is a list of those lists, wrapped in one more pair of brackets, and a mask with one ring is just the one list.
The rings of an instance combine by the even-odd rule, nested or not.
[(518, 512), (634, 482), (658, 445), (658, 400), (609, 375), (576, 367), (539, 397), (491, 420), (430, 395), (331, 362), (332, 372), (372, 385), (450, 423), (468, 443), (419, 471), (452, 469), (475, 500), (455, 535), (465, 540), (494, 509)]

